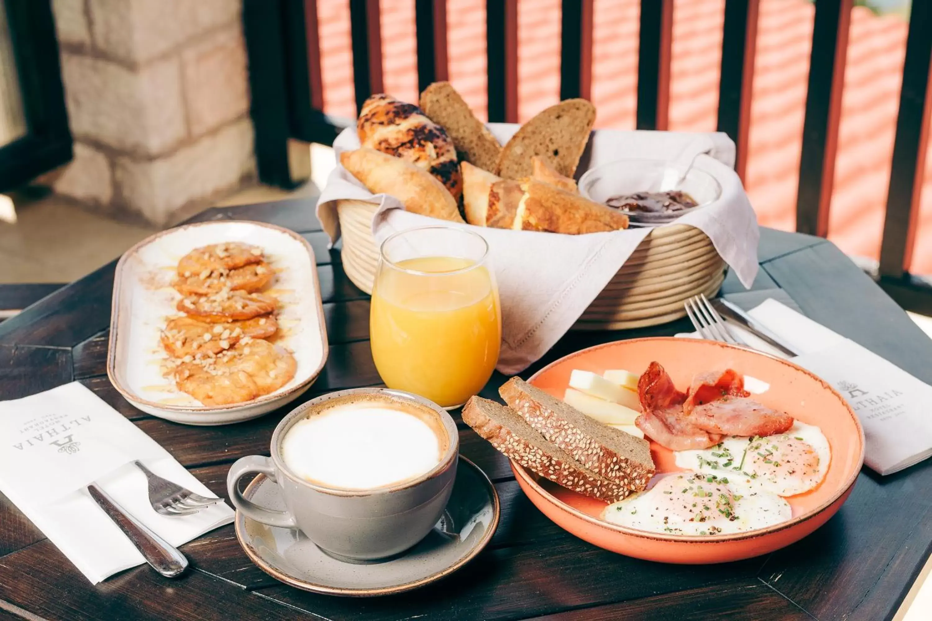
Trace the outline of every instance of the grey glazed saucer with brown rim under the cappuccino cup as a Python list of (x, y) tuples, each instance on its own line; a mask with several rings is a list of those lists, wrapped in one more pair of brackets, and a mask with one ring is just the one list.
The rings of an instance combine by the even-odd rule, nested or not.
[[(243, 495), (259, 506), (284, 509), (281, 489), (264, 475)], [(295, 529), (267, 526), (236, 514), (240, 546), (261, 570), (315, 593), (366, 597), (400, 593), (451, 574), (486, 547), (499, 525), (499, 496), (486, 473), (462, 455), (443, 517), (431, 533), (399, 557), (355, 564), (327, 556)]]

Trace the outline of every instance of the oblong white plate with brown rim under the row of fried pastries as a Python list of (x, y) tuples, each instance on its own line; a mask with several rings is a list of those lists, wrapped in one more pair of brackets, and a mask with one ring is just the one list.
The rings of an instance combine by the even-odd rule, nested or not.
[[(267, 293), (279, 299), (280, 332), (273, 342), (295, 356), (297, 371), (287, 385), (251, 401), (206, 406), (162, 376), (168, 358), (159, 334), (181, 294), (171, 288), (178, 261), (209, 244), (241, 241), (266, 253), (275, 271)], [(327, 359), (321, 288), (314, 251), (301, 236), (264, 223), (226, 221), (187, 224), (148, 237), (117, 263), (107, 375), (134, 406), (187, 425), (223, 425), (261, 416), (297, 398), (317, 379)]]

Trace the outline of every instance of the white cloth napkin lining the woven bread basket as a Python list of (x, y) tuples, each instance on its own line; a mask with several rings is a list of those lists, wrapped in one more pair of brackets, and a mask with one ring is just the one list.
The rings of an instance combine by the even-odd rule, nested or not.
[[(518, 126), (492, 123), (489, 128), (503, 144)], [(587, 166), (623, 158), (666, 159), (692, 142), (708, 152), (699, 155), (694, 166), (715, 177), (722, 194), (715, 203), (684, 215), (676, 223), (690, 224), (705, 232), (721, 257), (749, 287), (757, 275), (760, 233), (754, 209), (732, 169), (734, 143), (725, 134), (596, 129), (590, 139)], [(347, 128), (337, 137), (334, 149), (338, 157), (342, 151), (359, 145), (356, 129)], [(583, 166), (586, 164), (582, 163)], [(348, 170), (337, 165), (317, 204), (317, 215), (332, 241), (339, 236), (333, 202), (339, 198), (379, 205), (373, 222), (373, 235), (379, 242), (397, 231), (437, 222), (405, 211), (391, 196), (371, 194)], [(497, 368), (508, 374), (523, 371), (569, 330), (649, 232), (645, 228), (632, 228), (569, 236), (450, 224), (468, 228), (488, 242), (502, 311), (502, 345)]]

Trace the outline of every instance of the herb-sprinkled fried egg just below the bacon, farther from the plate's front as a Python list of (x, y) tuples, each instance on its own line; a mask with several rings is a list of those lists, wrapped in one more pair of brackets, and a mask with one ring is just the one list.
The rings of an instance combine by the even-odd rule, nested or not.
[(831, 461), (829, 440), (815, 425), (795, 421), (787, 433), (764, 438), (729, 436), (702, 451), (678, 451), (677, 466), (794, 496), (816, 489)]

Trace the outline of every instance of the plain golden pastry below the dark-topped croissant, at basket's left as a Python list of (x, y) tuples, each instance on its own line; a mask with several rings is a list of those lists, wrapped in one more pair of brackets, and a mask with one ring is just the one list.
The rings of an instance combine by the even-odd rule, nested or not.
[(394, 196), (408, 211), (455, 223), (463, 221), (457, 201), (444, 184), (404, 159), (363, 147), (341, 153), (340, 164), (369, 192)]

